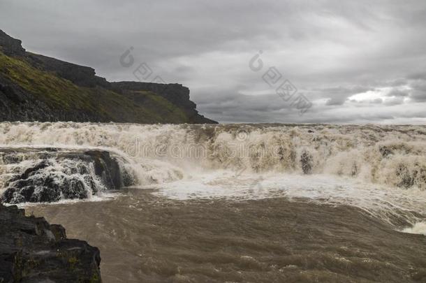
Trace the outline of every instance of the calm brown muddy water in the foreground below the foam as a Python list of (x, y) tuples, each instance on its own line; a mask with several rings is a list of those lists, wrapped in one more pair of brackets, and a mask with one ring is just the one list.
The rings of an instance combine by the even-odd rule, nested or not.
[(108, 201), (38, 204), (101, 249), (103, 282), (426, 282), (426, 236), (307, 199), (177, 201), (127, 189)]

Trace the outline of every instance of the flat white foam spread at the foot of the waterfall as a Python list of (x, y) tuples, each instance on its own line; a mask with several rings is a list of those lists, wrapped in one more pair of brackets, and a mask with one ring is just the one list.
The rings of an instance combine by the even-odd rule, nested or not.
[(179, 201), (190, 199), (226, 198), (244, 201), (262, 198), (308, 198), (316, 203), (351, 205), (390, 222), (404, 215), (406, 221), (418, 221), (426, 215), (426, 191), (401, 190), (335, 175), (242, 174), (229, 171), (197, 175), (156, 188), (154, 194)]

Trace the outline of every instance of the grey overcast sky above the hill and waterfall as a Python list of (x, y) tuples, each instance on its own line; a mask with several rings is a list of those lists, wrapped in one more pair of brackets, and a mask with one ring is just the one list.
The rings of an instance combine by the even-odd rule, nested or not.
[(426, 123), (425, 0), (0, 0), (0, 29), (110, 81), (145, 62), (219, 122)]

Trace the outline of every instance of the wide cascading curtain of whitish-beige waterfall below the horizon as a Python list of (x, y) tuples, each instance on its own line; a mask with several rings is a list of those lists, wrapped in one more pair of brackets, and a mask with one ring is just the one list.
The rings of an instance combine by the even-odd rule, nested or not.
[[(313, 173), (426, 189), (425, 126), (3, 122), (0, 132), (6, 147), (115, 152), (136, 165), (141, 184), (177, 180), (195, 168), (301, 173), (300, 159), (307, 154)], [(155, 166), (154, 160), (169, 166), (163, 164), (164, 172), (152, 171), (150, 178), (145, 169)]]

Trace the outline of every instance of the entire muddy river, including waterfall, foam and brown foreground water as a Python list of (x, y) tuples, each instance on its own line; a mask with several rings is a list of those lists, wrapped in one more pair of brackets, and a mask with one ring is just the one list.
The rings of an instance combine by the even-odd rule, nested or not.
[[(1, 194), (99, 247), (104, 282), (426, 282), (426, 126), (0, 133)], [(108, 152), (131, 187), (112, 190), (75, 159), (89, 150)], [(46, 186), (61, 188), (54, 203), (37, 202)]]

